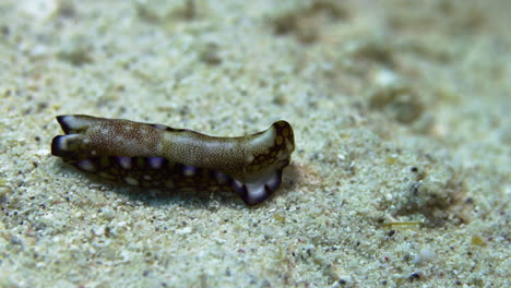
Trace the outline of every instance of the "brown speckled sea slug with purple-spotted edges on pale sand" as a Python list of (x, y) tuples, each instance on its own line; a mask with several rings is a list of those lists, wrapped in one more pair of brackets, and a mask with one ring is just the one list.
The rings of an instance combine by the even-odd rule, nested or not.
[(230, 187), (247, 205), (280, 187), (295, 149), (293, 128), (282, 120), (239, 137), (85, 115), (57, 121), (66, 135), (54, 137), (51, 154), (80, 170), (141, 188)]

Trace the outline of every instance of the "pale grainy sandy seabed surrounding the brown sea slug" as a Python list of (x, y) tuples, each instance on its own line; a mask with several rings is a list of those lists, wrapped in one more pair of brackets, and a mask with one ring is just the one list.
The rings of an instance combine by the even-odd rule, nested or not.
[[(0, 287), (510, 287), (511, 1), (426, 2), (2, 0)], [(296, 151), (161, 197), (51, 156), (66, 113)]]

